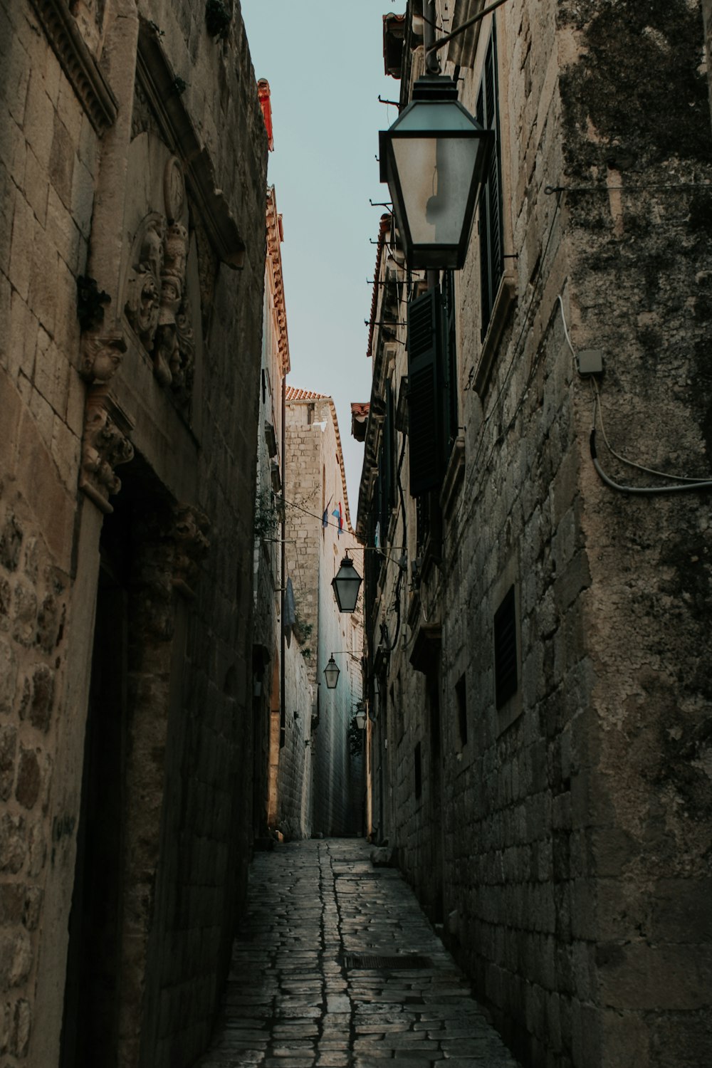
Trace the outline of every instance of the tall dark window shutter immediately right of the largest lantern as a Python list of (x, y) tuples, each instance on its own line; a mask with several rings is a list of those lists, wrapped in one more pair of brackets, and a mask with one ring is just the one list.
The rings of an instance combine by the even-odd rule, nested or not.
[(481, 283), (481, 336), (492, 316), (494, 298), (504, 273), (504, 230), (502, 211), (502, 147), (497, 89), (496, 34), (487, 46), (482, 80), (477, 95), (477, 122), (494, 130), (494, 148), (487, 178), (479, 194), (479, 273)]

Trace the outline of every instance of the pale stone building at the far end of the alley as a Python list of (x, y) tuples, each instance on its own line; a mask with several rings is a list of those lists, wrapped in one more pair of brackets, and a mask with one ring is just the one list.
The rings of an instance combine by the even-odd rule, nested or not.
[[(363, 615), (361, 600), (352, 614), (339, 612), (331, 583), (347, 551), (363, 574), (362, 552), (351, 529), (330, 396), (287, 387), (286, 455), (287, 567), (313, 693), (311, 738), (304, 739), (312, 751), (312, 833), (361, 833), (363, 761), (351, 722), (362, 697)], [(323, 671), (332, 656), (341, 674), (329, 689)]]

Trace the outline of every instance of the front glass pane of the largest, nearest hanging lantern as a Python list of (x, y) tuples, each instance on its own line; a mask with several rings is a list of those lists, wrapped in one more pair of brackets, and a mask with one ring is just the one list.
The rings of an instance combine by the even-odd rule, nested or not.
[(402, 206), (414, 245), (459, 242), (477, 150), (477, 138), (394, 137)]

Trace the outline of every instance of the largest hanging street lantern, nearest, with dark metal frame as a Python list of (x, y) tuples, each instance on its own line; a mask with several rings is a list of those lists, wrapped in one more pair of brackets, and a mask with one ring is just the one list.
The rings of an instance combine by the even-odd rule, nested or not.
[(424, 75), (413, 97), (379, 134), (381, 182), (411, 269), (459, 270), (494, 142), (443, 75)]

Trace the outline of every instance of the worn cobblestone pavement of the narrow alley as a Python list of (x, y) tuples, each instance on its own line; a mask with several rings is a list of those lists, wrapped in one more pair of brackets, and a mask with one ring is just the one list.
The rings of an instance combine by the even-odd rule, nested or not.
[(223, 1010), (195, 1068), (517, 1068), (408, 884), (369, 858), (359, 838), (256, 854)]

